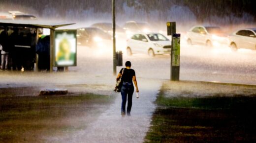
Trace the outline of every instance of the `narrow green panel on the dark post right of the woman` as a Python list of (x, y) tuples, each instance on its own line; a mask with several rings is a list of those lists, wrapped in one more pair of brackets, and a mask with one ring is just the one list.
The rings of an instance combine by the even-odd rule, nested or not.
[(180, 36), (173, 36), (172, 66), (180, 66)]

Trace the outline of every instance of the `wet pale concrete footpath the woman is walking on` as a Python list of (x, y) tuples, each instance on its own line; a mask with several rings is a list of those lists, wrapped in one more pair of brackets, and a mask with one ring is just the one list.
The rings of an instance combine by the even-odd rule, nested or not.
[(150, 127), (156, 105), (154, 101), (162, 85), (161, 80), (139, 79), (140, 97), (133, 95), (131, 116), (121, 116), (121, 94), (111, 107), (90, 123), (83, 131), (66, 137), (54, 137), (58, 143), (142, 143)]

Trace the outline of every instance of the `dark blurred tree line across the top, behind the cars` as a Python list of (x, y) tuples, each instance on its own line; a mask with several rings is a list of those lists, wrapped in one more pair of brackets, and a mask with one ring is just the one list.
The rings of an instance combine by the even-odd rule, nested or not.
[[(256, 0), (116, 0), (117, 12), (123, 12), (124, 3), (146, 12), (158, 10), (162, 13), (172, 5), (188, 6), (199, 22), (203, 22), (209, 15), (242, 17), (246, 12), (253, 15), (256, 22)], [(65, 16), (66, 10), (89, 8), (94, 8), (95, 12), (111, 13), (111, 0), (0, 0), (0, 8), (1, 5), (12, 9), (21, 6), (32, 7), (39, 16), (42, 16), (47, 7), (55, 8), (61, 16)]]

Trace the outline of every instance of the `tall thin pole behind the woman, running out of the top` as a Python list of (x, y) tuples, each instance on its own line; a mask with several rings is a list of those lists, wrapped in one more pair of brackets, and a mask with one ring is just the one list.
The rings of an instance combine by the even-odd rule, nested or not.
[(116, 61), (116, 16), (115, 16), (115, 0), (112, 0), (112, 20), (113, 20), (113, 74), (117, 74)]

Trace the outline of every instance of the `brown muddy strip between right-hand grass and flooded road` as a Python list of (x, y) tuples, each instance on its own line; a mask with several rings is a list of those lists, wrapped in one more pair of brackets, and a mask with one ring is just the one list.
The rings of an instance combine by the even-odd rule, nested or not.
[(166, 97), (256, 96), (256, 86), (253, 85), (211, 82), (167, 81), (162, 90)]

